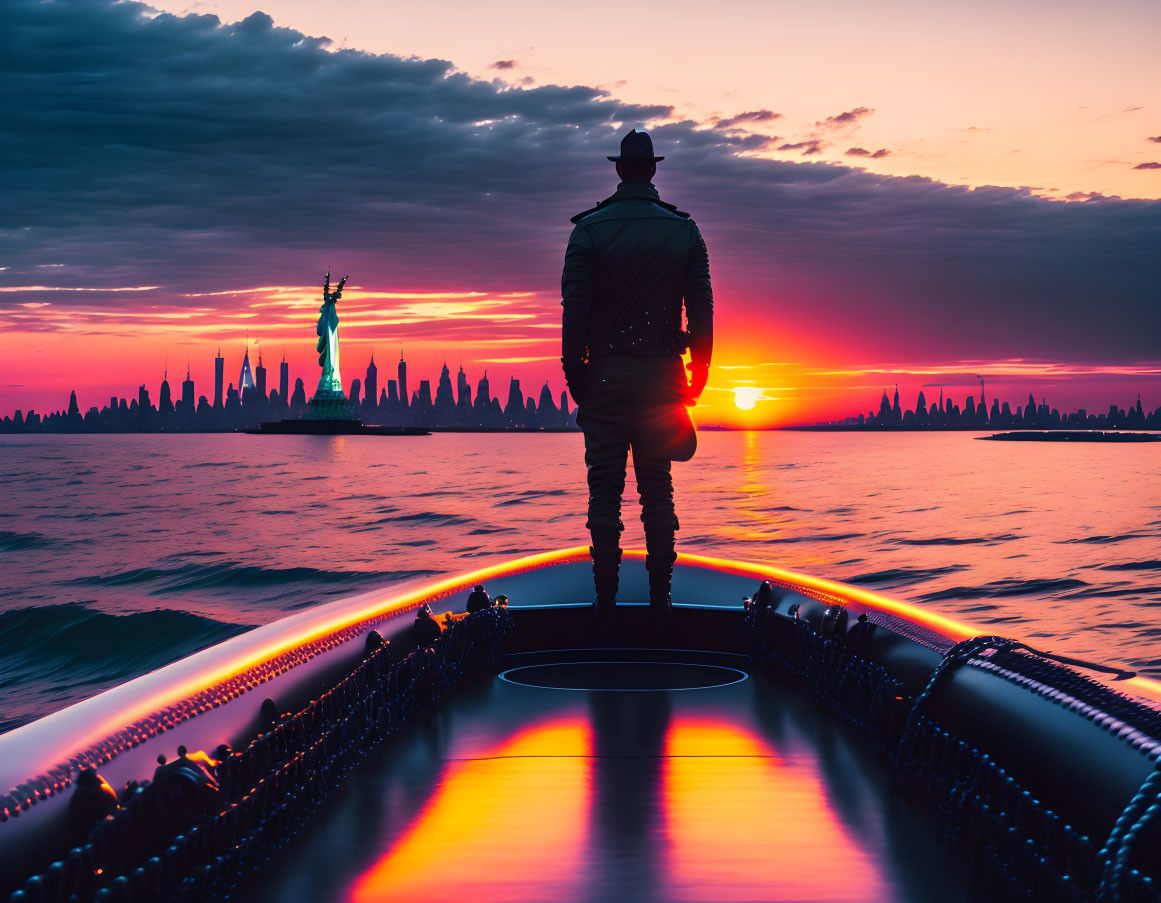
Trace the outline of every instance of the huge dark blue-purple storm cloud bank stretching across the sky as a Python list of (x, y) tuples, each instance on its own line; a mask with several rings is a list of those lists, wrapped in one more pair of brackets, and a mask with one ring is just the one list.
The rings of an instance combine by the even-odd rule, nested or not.
[(183, 292), (313, 284), (327, 265), (377, 290), (550, 297), (568, 216), (612, 188), (605, 154), (664, 120), (658, 185), (697, 215), (727, 319), (744, 298), (771, 335), (814, 318), (885, 354), (1156, 353), (1158, 202), (1061, 203), (744, 156), (771, 139), (589, 87), (332, 52), (261, 13), (223, 26), (129, 2), (6, 0), (0, 29), (0, 287), (161, 287), (0, 294), (13, 316), (43, 302), (204, 308), (217, 302)]

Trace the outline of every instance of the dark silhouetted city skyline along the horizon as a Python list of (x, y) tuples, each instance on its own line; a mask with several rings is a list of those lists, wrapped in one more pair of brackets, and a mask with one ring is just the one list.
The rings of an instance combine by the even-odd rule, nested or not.
[[(173, 384), (168, 382), (168, 369), (166, 368), (163, 371), (161, 381), (157, 384), (156, 403), (149, 383), (138, 385), (136, 398), (116, 392), (111, 393), (107, 399), (108, 404), (103, 407), (99, 404), (82, 405), (77, 398), (75, 390), (72, 390), (70, 403), (65, 407), (50, 405), (43, 411), (37, 411), (35, 407), (14, 409), (10, 413), (0, 410), (0, 429), (5, 432), (24, 431), (24, 416), (34, 412), (39, 418), (39, 425), (33, 427), (34, 429), (39, 429), (44, 425), (45, 418), (55, 418), (55, 426), (50, 427), (49, 432), (71, 432), (79, 428), (80, 421), (87, 422), (88, 426), (85, 428), (93, 432), (134, 432), (142, 428), (150, 432), (192, 431), (199, 426), (219, 432), (257, 426), (264, 420), (276, 419), (281, 416), (301, 417), (305, 412), (307, 402), (312, 393), (312, 390), (308, 389), (308, 385), (313, 384), (310, 374), (308, 373), (307, 378), (295, 376), (291, 383), (290, 362), (283, 354), (277, 361), (277, 383), (272, 383), (268, 378), (269, 368), (265, 366), (262, 352), (260, 348), (255, 348), (255, 351), (258, 352), (258, 361), (251, 367), (250, 346), (244, 346), (238, 363), (237, 385), (229, 378), (228, 359), (222, 355), (219, 347), (214, 357), (212, 389), (209, 392), (197, 392), (197, 381), (192, 377), (192, 369), (187, 366), (186, 377), (178, 383), (180, 392), (175, 393)], [(349, 361), (349, 354), (347, 360)], [(347, 369), (349, 371), (352, 368), (348, 366)], [(362, 418), (368, 425), (498, 429), (513, 426), (575, 427), (576, 406), (563, 388), (563, 378), (560, 381), (558, 395), (550, 388), (551, 381), (545, 380), (539, 391), (526, 396), (520, 378), (509, 374), (507, 389), (500, 391), (500, 395), (506, 396), (506, 400), (500, 403), (500, 395), (492, 393), (492, 378), (488, 375), (488, 368), (483, 369), (474, 390), (462, 361), (457, 362), (454, 381), (446, 360), (441, 363), (440, 377), (434, 383), (431, 378), (416, 380), (416, 369), (405, 360), (401, 346), (399, 359), (395, 362), (395, 378), (388, 376), (381, 382), (380, 370), (381, 368), (375, 361), (375, 351), (372, 348), (367, 366), (359, 370), (361, 375), (349, 377), (345, 387), (353, 414)], [(878, 407), (871, 409), (866, 413), (848, 414), (832, 420), (781, 424), (780, 426), (850, 429), (1002, 429), (1016, 427), (1161, 429), (1161, 405), (1156, 407), (1144, 405), (1139, 392), (1135, 404), (1131, 403), (1126, 407), (1122, 407), (1116, 400), (1105, 399), (1102, 405), (1091, 410), (1086, 406), (1068, 410), (1067, 405), (1047, 404), (1046, 396), (1041, 396), (1040, 402), (1037, 402), (1032, 392), (1029, 392), (1026, 403), (1010, 398), (1002, 399), (995, 391), (994, 381), (989, 382), (989, 377), (974, 374), (971, 380), (972, 382), (968, 384), (980, 388), (982, 404), (975, 403), (973, 392), (960, 396), (964, 400), (962, 406), (960, 406), (956, 402), (957, 396), (953, 396), (951, 390), (964, 387), (947, 381), (942, 384), (922, 384), (917, 389), (915, 405), (908, 409), (901, 402), (899, 384), (895, 384), (893, 398), (888, 397), (888, 390), (884, 388)], [(987, 390), (988, 384), (993, 385), (990, 399)], [(928, 399), (925, 390), (932, 390), (931, 399)], [(938, 396), (936, 396), (935, 390), (938, 390)], [(755, 391), (760, 392), (760, 390)], [(536, 400), (533, 400), (533, 395), (536, 395)], [(372, 398), (375, 400), (372, 402)], [(483, 404), (481, 404), (481, 398), (484, 399)], [(747, 413), (750, 410), (747, 405), (753, 404), (755, 396), (742, 388), (735, 390), (734, 400), (740, 412)], [(154, 414), (160, 413), (163, 418), (171, 414), (176, 414), (176, 417), (168, 421), (163, 419), (143, 424), (137, 419), (137, 412), (143, 405), (149, 405), (149, 410)], [(182, 417), (182, 410), (187, 412), (185, 417)], [(697, 413), (698, 410), (700, 409), (694, 409), (694, 412)], [(104, 420), (86, 419), (91, 413), (104, 417), (107, 411), (111, 411), (113, 414)], [(121, 413), (117, 414), (117, 411)], [(921, 411), (922, 413), (920, 413)], [(222, 412), (228, 412), (229, 416), (223, 417)], [(196, 413), (197, 419), (190, 419), (194, 413)], [(20, 416), (19, 420), (17, 416)], [(78, 417), (80, 421), (78, 421)], [(702, 425), (731, 426), (704, 421)], [(734, 428), (767, 427), (741, 424)]]

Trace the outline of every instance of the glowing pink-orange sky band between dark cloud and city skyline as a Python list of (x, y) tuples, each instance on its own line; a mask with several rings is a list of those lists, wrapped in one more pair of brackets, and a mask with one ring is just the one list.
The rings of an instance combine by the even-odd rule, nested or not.
[[(560, 301), (553, 292), (380, 291), (370, 284), (348, 289), (341, 302), (340, 335), (346, 383), (362, 378), (377, 352), (380, 387), (394, 377), (402, 344), (409, 382), (433, 388), (440, 368), (457, 361), (475, 390), (490, 368), (493, 395), (504, 397), (510, 376), (535, 395), (547, 381), (554, 398), (564, 389), (560, 369)], [(724, 280), (723, 280), (724, 282)], [(147, 287), (146, 287), (147, 288)], [(731, 291), (715, 331), (716, 351), (709, 382), (694, 419), (702, 426), (769, 428), (857, 417), (877, 410), (884, 389), (900, 385), (904, 407), (914, 407), (921, 388), (943, 383), (962, 405), (979, 398), (975, 374), (986, 374), (988, 397), (1012, 410), (1033, 391), (1061, 410), (1084, 406), (1108, 410), (1131, 404), (1138, 391), (1146, 407), (1161, 402), (1161, 361), (1087, 363), (1048, 360), (868, 360), (864, 339), (820, 332), (817, 324), (783, 322), (769, 313), (772, 299)], [(188, 362), (195, 397), (212, 397), (212, 361), (221, 348), (225, 382), (237, 383), (241, 355), (252, 366), (265, 353), (267, 385), (277, 387), (277, 362), (286, 354), (290, 388), (301, 378), (308, 395), (318, 378), (313, 322), (318, 290), (310, 286), (261, 286), (253, 289), (150, 296), (132, 308), (88, 291), (63, 299), (67, 289), (26, 287), (21, 299), (0, 318), (10, 353), (0, 361), (0, 416), (34, 409), (63, 410), (78, 392), (81, 412), (103, 406), (110, 396), (132, 398), (144, 384), (156, 404), (163, 375), (180, 397)], [(142, 291), (135, 290), (135, 295)], [(196, 298), (196, 306), (186, 306)], [(774, 310), (802, 308), (801, 299), (777, 298)], [(108, 305), (108, 306), (104, 306)], [(207, 306), (208, 305), (208, 306)], [(767, 311), (767, 312), (763, 312)], [(794, 315), (798, 316), (798, 315)], [(767, 340), (765, 337), (772, 337)], [(23, 383), (35, 374), (35, 384)], [(937, 389), (926, 389), (928, 402)], [(570, 402), (571, 405), (571, 402)]]

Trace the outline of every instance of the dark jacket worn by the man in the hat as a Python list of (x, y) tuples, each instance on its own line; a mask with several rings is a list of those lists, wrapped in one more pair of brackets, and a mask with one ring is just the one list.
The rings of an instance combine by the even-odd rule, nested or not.
[[(714, 299), (709, 258), (688, 214), (648, 182), (572, 217), (561, 276), (565, 373), (611, 353), (680, 355), (709, 364)], [(688, 332), (682, 330), (685, 305)]]

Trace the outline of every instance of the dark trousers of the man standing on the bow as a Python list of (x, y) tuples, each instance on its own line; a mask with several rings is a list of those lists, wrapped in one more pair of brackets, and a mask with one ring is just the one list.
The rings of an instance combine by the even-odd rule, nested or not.
[(651, 442), (647, 414), (684, 403), (686, 382), (682, 359), (610, 354), (598, 357), (591, 367), (592, 378), (577, 411), (589, 479), (585, 526), (590, 530), (623, 529), (621, 497), (632, 450), (647, 544), (668, 543), (672, 549), (673, 532), (678, 528), (672, 462)]

